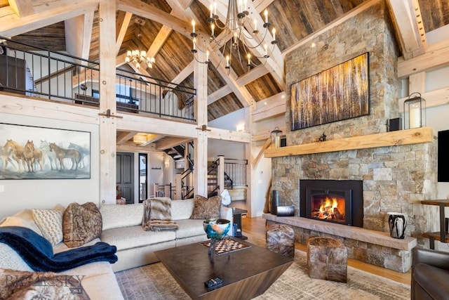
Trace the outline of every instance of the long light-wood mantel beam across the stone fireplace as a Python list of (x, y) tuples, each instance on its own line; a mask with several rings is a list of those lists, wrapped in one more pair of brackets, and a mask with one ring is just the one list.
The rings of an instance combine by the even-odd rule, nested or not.
[(422, 127), (375, 133), (366, 136), (352, 136), (351, 138), (339, 138), (337, 140), (308, 143), (304, 145), (267, 149), (264, 151), (264, 157), (270, 158), (292, 155), (307, 155), (324, 152), (388, 147), (394, 145), (430, 143), (432, 141), (434, 141), (434, 133), (432, 128)]

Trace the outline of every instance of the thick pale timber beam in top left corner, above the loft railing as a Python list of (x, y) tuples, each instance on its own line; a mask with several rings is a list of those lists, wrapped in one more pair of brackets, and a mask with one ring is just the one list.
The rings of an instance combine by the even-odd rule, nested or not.
[(73, 3), (59, 4), (58, 6), (50, 6), (46, 11), (18, 18), (18, 15), (13, 12), (12, 8), (6, 6), (0, 8), (0, 15), (4, 15), (1, 18), (0, 35), (3, 37), (15, 37), (25, 32), (37, 30), (97, 10), (98, 0), (83, 0), (79, 1), (76, 6)]

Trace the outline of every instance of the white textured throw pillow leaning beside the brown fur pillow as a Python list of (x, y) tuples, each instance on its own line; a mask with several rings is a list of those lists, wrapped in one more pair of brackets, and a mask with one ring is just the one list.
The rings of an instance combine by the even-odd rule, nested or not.
[(54, 246), (62, 242), (62, 211), (59, 209), (32, 209), (34, 221), (43, 237)]

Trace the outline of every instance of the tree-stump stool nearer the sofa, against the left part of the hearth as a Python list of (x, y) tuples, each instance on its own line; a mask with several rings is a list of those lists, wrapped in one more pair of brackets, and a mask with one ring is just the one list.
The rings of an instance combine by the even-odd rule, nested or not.
[(295, 257), (295, 232), (287, 225), (270, 224), (267, 228), (267, 249), (272, 252)]

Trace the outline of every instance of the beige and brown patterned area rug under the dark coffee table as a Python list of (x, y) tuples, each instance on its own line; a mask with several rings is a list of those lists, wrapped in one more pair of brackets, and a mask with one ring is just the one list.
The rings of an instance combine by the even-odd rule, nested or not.
[[(190, 299), (162, 263), (115, 274), (125, 299)], [(307, 256), (296, 249), (295, 262), (255, 299), (410, 299), (409, 285), (351, 267), (347, 278), (347, 283), (309, 278)]]

